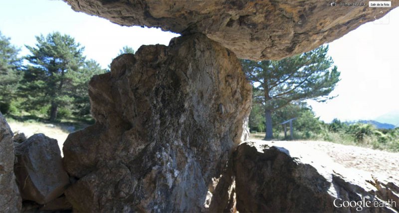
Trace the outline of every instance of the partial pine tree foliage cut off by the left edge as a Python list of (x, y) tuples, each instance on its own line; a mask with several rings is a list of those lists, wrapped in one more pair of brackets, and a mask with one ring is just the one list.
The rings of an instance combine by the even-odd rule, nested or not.
[(8, 113), (12, 108), (11, 100), (16, 96), (16, 88), (21, 79), (22, 60), (19, 49), (9, 42), (9, 38), (0, 32), (0, 111)]

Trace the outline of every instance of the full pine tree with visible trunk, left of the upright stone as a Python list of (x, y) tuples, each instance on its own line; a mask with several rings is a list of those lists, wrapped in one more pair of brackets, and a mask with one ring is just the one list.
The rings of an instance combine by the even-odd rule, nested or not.
[(69, 107), (74, 101), (74, 80), (84, 66), (84, 47), (69, 35), (59, 32), (36, 36), (35, 46), (26, 46), (31, 52), (24, 73), (24, 92), (31, 106), (50, 105), (49, 118), (57, 118), (58, 108)]

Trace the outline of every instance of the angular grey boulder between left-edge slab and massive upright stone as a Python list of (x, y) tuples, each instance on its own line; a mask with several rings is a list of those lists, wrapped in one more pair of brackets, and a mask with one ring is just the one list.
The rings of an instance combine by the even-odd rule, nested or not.
[(69, 177), (57, 140), (35, 134), (15, 144), (14, 172), (23, 200), (47, 204), (62, 195)]

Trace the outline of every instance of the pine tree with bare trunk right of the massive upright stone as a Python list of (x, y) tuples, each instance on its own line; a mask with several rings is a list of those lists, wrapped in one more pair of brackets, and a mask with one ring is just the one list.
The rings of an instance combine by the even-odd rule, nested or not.
[(253, 101), (262, 104), (266, 120), (265, 139), (273, 138), (272, 113), (292, 101), (324, 102), (339, 82), (340, 72), (327, 56), (328, 46), (279, 61), (242, 60), (253, 85)]

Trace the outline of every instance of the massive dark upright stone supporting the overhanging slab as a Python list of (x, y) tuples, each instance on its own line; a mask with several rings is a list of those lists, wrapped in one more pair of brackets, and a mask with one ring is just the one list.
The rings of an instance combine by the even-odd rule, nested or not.
[(142, 46), (94, 76), (89, 95), (96, 123), (63, 147), (75, 211), (202, 212), (223, 194), (251, 102), (233, 52), (202, 34)]

